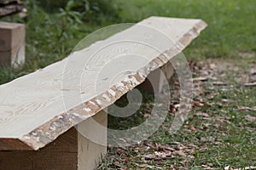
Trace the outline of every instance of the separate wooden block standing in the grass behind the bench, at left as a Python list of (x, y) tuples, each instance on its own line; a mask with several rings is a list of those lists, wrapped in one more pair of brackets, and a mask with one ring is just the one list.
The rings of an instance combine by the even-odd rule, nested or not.
[(17, 67), (25, 62), (25, 25), (0, 22), (0, 64)]

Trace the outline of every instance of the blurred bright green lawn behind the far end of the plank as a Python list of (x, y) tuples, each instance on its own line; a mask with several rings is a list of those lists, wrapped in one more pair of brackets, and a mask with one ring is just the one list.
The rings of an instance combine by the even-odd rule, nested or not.
[(131, 0), (121, 4), (119, 15), (125, 22), (137, 22), (151, 15), (205, 20), (208, 28), (185, 51), (187, 57), (236, 58), (238, 53), (256, 51), (253, 0)]

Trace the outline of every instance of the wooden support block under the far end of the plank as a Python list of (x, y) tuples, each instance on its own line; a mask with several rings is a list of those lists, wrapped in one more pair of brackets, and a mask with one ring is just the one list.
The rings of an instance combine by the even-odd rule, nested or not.
[(167, 62), (166, 65), (152, 71), (145, 82), (140, 84), (137, 88), (150, 94), (161, 94), (163, 93), (164, 86), (168, 85), (168, 81), (170, 81), (173, 74), (174, 69), (171, 62)]

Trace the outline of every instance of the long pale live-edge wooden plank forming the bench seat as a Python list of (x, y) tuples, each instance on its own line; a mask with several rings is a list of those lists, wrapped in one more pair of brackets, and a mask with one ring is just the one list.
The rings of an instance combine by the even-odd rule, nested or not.
[[(0, 150), (38, 150), (112, 105), (207, 25), (150, 17), (66, 59), (0, 86)], [(9, 142), (6, 142), (9, 141)]]

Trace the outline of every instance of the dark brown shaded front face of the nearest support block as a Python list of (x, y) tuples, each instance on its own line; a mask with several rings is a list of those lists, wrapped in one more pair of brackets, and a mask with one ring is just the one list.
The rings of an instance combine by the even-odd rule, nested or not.
[(0, 151), (0, 169), (76, 169), (77, 141), (78, 133), (73, 127), (42, 150), (2, 150)]

